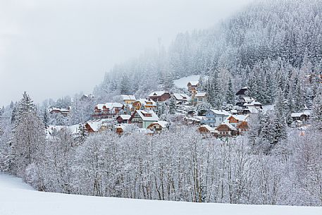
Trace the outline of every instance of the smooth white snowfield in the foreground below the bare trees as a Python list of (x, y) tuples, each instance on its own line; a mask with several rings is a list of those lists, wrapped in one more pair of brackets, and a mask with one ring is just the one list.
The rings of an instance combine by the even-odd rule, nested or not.
[(199, 204), (63, 195), (50, 192), (38, 192), (23, 183), (20, 178), (0, 174), (0, 214), (314, 215), (322, 214), (322, 207)]

